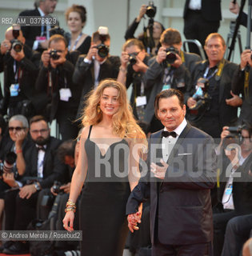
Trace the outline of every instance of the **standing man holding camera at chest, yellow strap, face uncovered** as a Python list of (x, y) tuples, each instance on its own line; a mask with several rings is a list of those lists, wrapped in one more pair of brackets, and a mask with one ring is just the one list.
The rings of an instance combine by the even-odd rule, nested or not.
[[(226, 43), (218, 33), (209, 34), (205, 42), (207, 61), (198, 62), (192, 72), (191, 95), (198, 87), (207, 89), (206, 104), (199, 105), (194, 97), (187, 100), (187, 118), (194, 126), (204, 130), (213, 138), (219, 138), (222, 126), (231, 126), (238, 119), (238, 106), (242, 105), (242, 98), (233, 94), (231, 83), (237, 65), (226, 61), (224, 54)], [(198, 83), (199, 78), (209, 82), (209, 86)]]

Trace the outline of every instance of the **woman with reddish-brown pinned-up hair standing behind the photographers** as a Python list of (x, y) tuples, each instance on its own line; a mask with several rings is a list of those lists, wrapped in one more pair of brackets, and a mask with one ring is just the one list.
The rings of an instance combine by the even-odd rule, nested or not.
[(70, 30), (68, 50), (78, 50), (80, 54), (87, 54), (90, 49), (91, 38), (82, 32), (86, 23), (86, 8), (73, 5), (66, 10), (66, 22)]

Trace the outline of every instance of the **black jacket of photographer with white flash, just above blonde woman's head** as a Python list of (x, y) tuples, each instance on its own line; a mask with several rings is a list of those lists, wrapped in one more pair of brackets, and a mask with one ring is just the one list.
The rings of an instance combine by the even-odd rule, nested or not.
[[(86, 63), (84, 62), (84, 58), (86, 58), (86, 55), (79, 56), (73, 75), (74, 83), (82, 86), (77, 118), (80, 118), (82, 115), (86, 95), (90, 90), (94, 89), (94, 63)], [(121, 61), (118, 56), (109, 56), (106, 62), (102, 63), (100, 66), (98, 81), (102, 81), (106, 78), (117, 78), (120, 65)]]

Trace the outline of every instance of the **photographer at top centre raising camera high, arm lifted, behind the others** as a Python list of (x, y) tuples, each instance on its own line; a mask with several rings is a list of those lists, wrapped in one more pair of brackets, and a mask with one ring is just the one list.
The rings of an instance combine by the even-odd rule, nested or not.
[(137, 30), (139, 23), (141, 22), (144, 15), (149, 18), (148, 26), (144, 26), (142, 34), (138, 35), (138, 39), (143, 42), (146, 47), (146, 52), (150, 55), (156, 55), (160, 45), (160, 37), (162, 32), (165, 30), (164, 26), (160, 22), (154, 21), (157, 7), (154, 6), (154, 2), (150, 1), (149, 5), (142, 5), (138, 17), (130, 24), (126, 30), (124, 38), (126, 40), (134, 38), (134, 32)]

